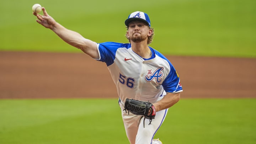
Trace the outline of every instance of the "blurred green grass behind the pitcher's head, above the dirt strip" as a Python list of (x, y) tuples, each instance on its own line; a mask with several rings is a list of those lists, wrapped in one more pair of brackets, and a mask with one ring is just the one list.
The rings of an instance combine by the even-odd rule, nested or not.
[(144, 11), (155, 28), (150, 46), (162, 53), (256, 57), (255, 0), (1, 1), (0, 50), (80, 52), (36, 22), (34, 3), (98, 43), (128, 42), (124, 20), (131, 12)]

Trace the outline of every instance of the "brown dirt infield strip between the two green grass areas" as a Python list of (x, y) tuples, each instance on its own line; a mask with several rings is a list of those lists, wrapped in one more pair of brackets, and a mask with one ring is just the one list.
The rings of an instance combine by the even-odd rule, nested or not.
[[(256, 59), (166, 56), (182, 98), (256, 98)], [(117, 98), (106, 64), (84, 53), (0, 52), (0, 98)]]

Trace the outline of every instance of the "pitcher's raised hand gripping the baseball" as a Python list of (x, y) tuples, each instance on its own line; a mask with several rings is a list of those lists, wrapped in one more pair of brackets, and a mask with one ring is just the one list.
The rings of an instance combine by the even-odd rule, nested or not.
[(33, 12), (33, 15), (35, 15), (38, 19), (36, 20), (39, 24), (46, 28), (52, 29), (56, 21), (47, 14), (46, 9), (43, 7), (43, 15), (36, 14)]

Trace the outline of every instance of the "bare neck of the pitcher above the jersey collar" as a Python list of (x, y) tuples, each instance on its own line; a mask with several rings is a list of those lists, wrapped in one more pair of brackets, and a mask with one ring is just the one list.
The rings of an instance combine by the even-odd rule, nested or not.
[(137, 53), (142, 58), (150, 58), (152, 53), (148, 47), (148, 44), (145, 43), (131, 43), (132, 50)]

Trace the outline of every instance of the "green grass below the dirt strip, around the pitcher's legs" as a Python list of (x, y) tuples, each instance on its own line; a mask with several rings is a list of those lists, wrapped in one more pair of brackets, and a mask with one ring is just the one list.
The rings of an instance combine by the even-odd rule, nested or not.
[[(164, 144), (255, 144), (255, 103), (181, 99), (156, 138)], [(120, 113), (117, 99), (0, 100), (0, 143), (128, 144)]]

